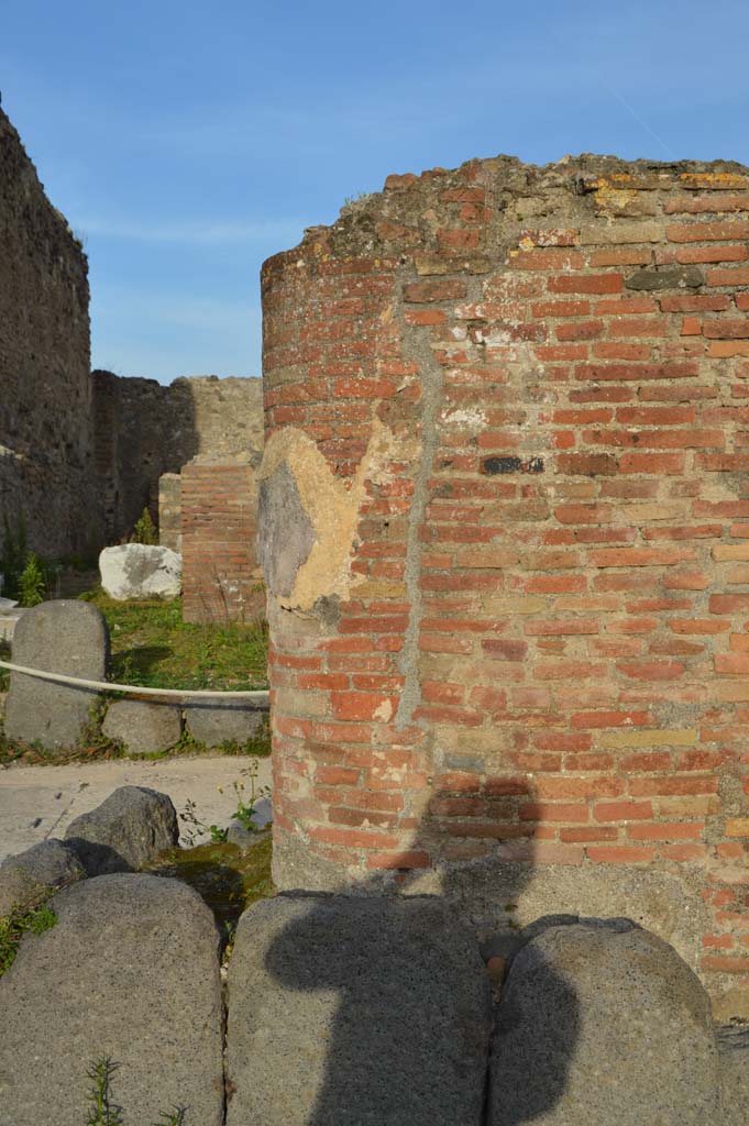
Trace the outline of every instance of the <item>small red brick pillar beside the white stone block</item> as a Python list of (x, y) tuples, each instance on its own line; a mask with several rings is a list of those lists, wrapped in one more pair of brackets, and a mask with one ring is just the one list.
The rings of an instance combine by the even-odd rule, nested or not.
[(247, 464), (182, 468), (182, 616), (249, 620), (265, 609), (257, 566), (257, 484)]

